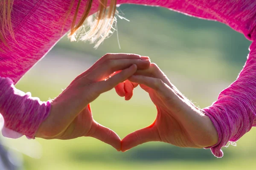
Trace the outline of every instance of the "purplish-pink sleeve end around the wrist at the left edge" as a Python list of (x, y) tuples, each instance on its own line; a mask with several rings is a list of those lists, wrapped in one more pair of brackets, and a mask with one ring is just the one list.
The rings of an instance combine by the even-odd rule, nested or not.
[(41, 102), (30, 93), (15, 88), (11, 79), (0, 77), (3, 136), (18, 138), (25, 135), (29, 139), (35, 139), (35, 133), (49, 115), (50, 107), (50, 101)]

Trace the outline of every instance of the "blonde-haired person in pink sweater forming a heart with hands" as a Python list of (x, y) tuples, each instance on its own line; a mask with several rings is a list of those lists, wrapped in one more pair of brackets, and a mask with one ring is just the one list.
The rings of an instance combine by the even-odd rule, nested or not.
[[(19, 137), (21, 134), (28, 138), (36, 136), (45, 139), (94, 136), (100, 139), (104, 135), (104, 142), (122, 151), (144, 142), (162, 141), (180, 147), (210, 148), (215, 156), (221, 157), (223, 156), (221, 147), (230, 141), (237, 141), (252, 126), (256, 125), (254, 123), (256, 100), (254, 97), (256, 83), (254, 77), (256, 70), (254, 64), (254, 40), (256, 37), (254, 7), (256, 1), (14, 0), (12, 3), (11, 0), (3, 0), (2, 2), (0, 113), (5, 119), (2, 130), (5, 136)], [(111, 64), (108, 62), (110, 65), (105, 66), (105, 62), (100, 62), (104, 59), (100, 59), (96, 63), (97, 66), (94, 65), (81, 74), (81, 77), (76, 78), (52, 102), (41, 102), (14, 87), (15, 83), (39, 59), (44, 57), (68, 30), (70, 30), (71, 40), (76, 40), (80, 36), (81, 40), (95, 42), (97, 47), (105, 37), (108, 37), (111, 24), (115, 19), (116, 5), (123, 3), (165, 7), (194, 17), (219, 21), (243, 33), (253, 43), (250, 46), (247, 62), (238, 79), (221, 92), (216, 102), (204, 109), (192, 105), (177, 91), (177, 88), (169, 82), (156, 65), (144, 61), (143, 66), (137, 60), (128, 62), (128, 60), (133, 60), (133, 57), (126, 58), (128, 65), (119, 67), (120, 70), (124, 70), (107, 81), (102, 80), (117, 70), (111, 69)], [(108, 10), (106, 10), (107, 6), (109, 6)], [(96, 12), (95, 20), (93, 20), (91, 16)], [(79, 34), (77, 31), (85, 30), (83, 27), (85, 19), (88, 19), (86, 22), (90, 26), (89, 32)], [(110, 56), (112, 55), (108, 54), (108, 57)], [(113, 56), (117, 57), (118, 55)], [(127, 55), (122, 57), (125, 56), (127, 57)], [(116, 63), (117, 60), (121, 59), (114, 58), (113, 63)], [(128, 66), (130, 67), (127, 68)], [(93, 72), (95, 71), (93, 68), (97, 68), (97, 71)], [(116, 68), (118, 67), (116, 66)], [(139, 71), (137, 68), (141, 68), (143, 71)], [(130, 74), (127, 73), (128, 71)], [(95, 79), (92, 78), (94, 75), (90, 72), (97, 75)], [(133, 74), (134, 76), (131, 76)], [(86, 78), (87, 76), (90, 78)], [(129, 78), (129, 80), (122, 82), (125, 78)], [(112, 86), (109, 85), (108, 88), (102, 85), (112, 81), (115, 83), (111, 84)], [(87, 83), (84, 84), (84, 82)], [(118, 82), (120, 83), (118, 84)], [(104, 91), (103, 89), (106, 91), (116, 85), (116, 92), (120, 96), (130, 99), (132, 90), (137, 83), (140, 83), (141, 87), (149, 93), (157, 106), (157, 118), (152, 125), (129, 134), (121, 141), (117, 135), (113, 135), (115, 134), (113, 131), (97, 124), (92, 119), (86, 123), (80, 122), (80, 119), (87, 120), (86, 116), (91, 117), (90, 105), (87, 104), (96, 99)], [(93, 93), (89, 92), (89, 89), (93, 89)], [(81, 96), (84, 102), (76, 102), (79, 98), (76, 94), (80, 94), (80, 96), (84, 94)], [(88, 98), (84, 99), (84, 96)], [(90, 123), (92, 124), (90, 125)], [(83, 131), (79, 130), (81, 126), (91, 126), (91, 128), (87, 128), (89, 131)], [(84, 135), (85, 133), (87, 134)]]

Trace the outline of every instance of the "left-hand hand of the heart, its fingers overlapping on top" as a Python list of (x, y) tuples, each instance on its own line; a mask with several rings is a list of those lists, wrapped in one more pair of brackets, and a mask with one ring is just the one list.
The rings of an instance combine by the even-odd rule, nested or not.
[[(100, 94), (125, 81), (137, 69), (150, 65), (148, 57), (136, 54), (106, 54), (84, 71), (52, 101), (47, 119), (40, 125), (36, 137), (44, 139), (74, 139), (91, 136), (121, 150), (119, 136), (93, 120), (90, 102)], [(114, 71), (120, 71), (109, 77)], [(109, 78), (108, 78), (109, 77)], [(106, 79), (108, 78), (108, 79)]]

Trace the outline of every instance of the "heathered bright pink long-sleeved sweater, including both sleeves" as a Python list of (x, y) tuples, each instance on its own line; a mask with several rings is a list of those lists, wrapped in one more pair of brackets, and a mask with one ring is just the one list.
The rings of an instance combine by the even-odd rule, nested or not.
[[(63, 18), (71, 0), (14, 0), (12, 23), (16, 40), (11, 49), (0, 43), (0, 113), (5, 119), (3, 134), (16, 138), (35, 132), (50, 111), (50, 102), (25, 94), (14, 84), (36, 64), (69, 30), (74, 9), (61, 34)], [(77, 3), (77, 0), (76, 0)], [(217, 20), (253, 41), (256, 39), (256, 0), (117, 0), (118, 4), (134, 3), (170, 8), (202, 19)], [(81, 3), (79, 17), (86, 0)], [(76, 5), (76, 4), (75, 4)], [(94, 0), (90, 14), (97, 11)], [(218, 130), (219, 142), (210, 147), (221, 157), (221, 147), (237, 141), (254, 125), (256, 113), (256, 47), (250, 46), (248, 60), (238, 79), (221, 92), (218, 100), (203, 109)]]

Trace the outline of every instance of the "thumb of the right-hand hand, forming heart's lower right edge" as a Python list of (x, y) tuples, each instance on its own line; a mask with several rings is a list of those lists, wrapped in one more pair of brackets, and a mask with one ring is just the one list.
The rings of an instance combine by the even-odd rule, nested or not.
[(139, 144), (152, 141), (160, 141), (157, 129), (154, 126), (145, 127), (125, 136), (125, 138), (122, 139), (121, 142), (121, 151), (125, 152), (133, 147), (136, 147)]

